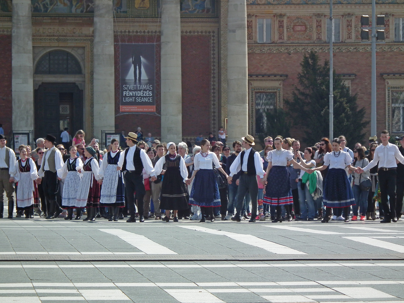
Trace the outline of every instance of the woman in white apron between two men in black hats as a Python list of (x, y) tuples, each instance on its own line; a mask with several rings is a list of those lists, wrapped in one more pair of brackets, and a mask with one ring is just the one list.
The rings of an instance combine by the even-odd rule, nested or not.
[[(38, 189), (34, 180), (38, 172), (34, 160), (27, 157), (27, 148), (21, 147), (20, 158), (17, 160), (15, 181), (18, 182), (17, 211), (24, 210), (25, 219), (34, 218), (34, 207), (38, 207)], [(36, 204), (36, 206), (35, 206)]]

